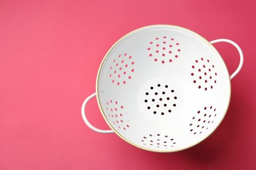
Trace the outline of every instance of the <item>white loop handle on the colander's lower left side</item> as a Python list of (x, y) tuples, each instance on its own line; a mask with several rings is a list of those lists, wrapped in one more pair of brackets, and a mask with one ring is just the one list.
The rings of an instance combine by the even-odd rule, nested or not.
[(112, 130), (102, 130), (102, 129), (98, 129), (96, 127), (94, 127), (92, 124), (90, 124), (90, 122), (87, 120), (86, 116), (85, 116), (85, 106), (87, 104), (87, 102), (95, 97), (96, 93), (93, 93), (92, 95), (90, 95), (89, 97), (87, 97), (85, 99), (85, 101), (83, 101), (83, 105), (82, 105), (82, 108), (81, 108), (81, 112), (82, 112), (82, 117), (83, 117), (83, 121), (85, 121), (85, 124), (90, 127), (91, 129), (93, 129), (94, 131), (98, 132), (98, 133), (114, 133), (114, 131)]

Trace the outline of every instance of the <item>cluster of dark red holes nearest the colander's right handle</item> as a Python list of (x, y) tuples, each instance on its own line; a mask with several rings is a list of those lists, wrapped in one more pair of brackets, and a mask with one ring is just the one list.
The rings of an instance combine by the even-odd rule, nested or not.
[(191, 68), (192, 82), (196, 84), (198, 89), (204, 91), (213, 89), (217, 83), (217, 72), (215, 71), (215, 65), (209, 59), (196, 59)]

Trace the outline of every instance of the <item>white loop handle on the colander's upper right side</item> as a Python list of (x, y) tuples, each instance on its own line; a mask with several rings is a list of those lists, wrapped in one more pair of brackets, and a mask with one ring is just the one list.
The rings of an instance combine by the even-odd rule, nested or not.
[(236, 42), (231, 41), (229, 39), (217, 39), (217, 40), (210, 41), (210, 42), (211, 42), (211, 44), (214, 44), (216, 42), (228, 42), (228, 43), (232, 44), (233, 46), (235, 46), (236, 49), (238, 50), (239, 55), (240, 55), (240, 63), (238, 65), (238, 68), (236, 69), (236, 71), (234, 71), (234, 73), (230, 76), (230, 80), (231, 80), (232, 78), (234, 78), (234, 76), (236, 76), (239, 73), (239, 71), (242, 69), (242, 66), (244, 63), (244, 54), (243, 54), (240, 46), (238, 46), (238, 44), (236, 44)]

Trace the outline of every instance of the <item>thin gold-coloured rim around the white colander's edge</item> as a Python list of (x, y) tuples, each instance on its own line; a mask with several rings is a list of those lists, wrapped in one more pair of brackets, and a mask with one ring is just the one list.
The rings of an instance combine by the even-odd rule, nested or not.
[[(106, 55), (104, 56), (104, 58), (102, 59), (102, 62), (100, 63), (100, 67), (98, 69), (98, 74), (97, 74), (97, 77), (96, 77), (96, 99), (97, 99), (97, 103), (98, 105), (100, 106), (100, 112), (104, 118), (104, 120), (106, 121), (106, 123), (108, 124), (108, 126), (110, 127), (110, 129), (112, 129), (114, 131), (114, 133), (116, 133), (116, 135), (118, 135), (119, 137), (121, 137), (121, 139), (123, 139), (124, 141), (126, 141), (127, 143), (129, 144), (132, 144), (133, 146), (136, 146), (137, 148), (141, 148), (143, 150), (148, 150), (148, 151), (151, 151), (151, 152), (177, 152), (177, 151), (181, 151), (181, 150), (185, 150), (187, 148), (190, 148), (192, 146), (195, 146), (196, 144), (199, 144), (199, 143), (202, 143), (202, 141), (204, 141), (205, 139), (207, 139), (221, 124), (221, 122), (223, 122), (223, 119), (224, 117), (226, 116), (226, 112), (228, 111), (228, 107), (229, 107), (229, 104), (230, 104), (230, 97), (231, 97), (231, 83), (230, 83), (230, 78), (229, 78), (229, 89), (230, 89), (230, 92), (229, 92), (229, 98), (228, 98), (228, 104), (226, 105), (226, 110), (224, 112), (224, 115), (223, 115), (223, 118), (221, 119), (221, 121), (219, 122), (219, 124), (215, 127), (215, 129), (213, 129), (211, 131), (211, 133), (209, 133), (209, 135), (207, 135), (202, 141), (199, 141), (198, 143), (195, 143), (195, 144), (192, 144), (190, 146), (187, 146), (187, 147), (184, 147), (184, 148), (179, 148), (177, 150), (155, 150), (155, 149), (150, 149), (150, 148), (145, 148), (145, 147), (142, 147), (138, 144), (135, 144), (135, 143), (132, 143), (131, 141), (129, 141), (128, 139), (126, 139), (125, 137), (123, 137), (118, 131), (116, 131), (116, 129), (110, 124), (110, 122), (108, 122), (108, 118), (106, 118), (106, 115), (104, 114), (104, 111), (102, 109), (102, 106), (100, 105), (100, 100), (99, 100), (99, 97), (98, 97), (98, 79), (99, 79), (99, 76), (100, 76), (100, 72), (102, 70), (102, 65), (104, 64), (104, 61), (106, 60), (106, 58), (108, 58), (108, 54), (110, 54), (110, 52), (113, 50), (113, 48), (120, 42), (122, 41), (123, 39), (125, 39), (125, 37), (128, 37), (129, 35), (137, 32), (137, 31), (140, 31), (142, 29), (146, 29), (146, 28), (150, 28), (150, 27), (161, 27), (161, 26), (164, 26), (164, 27), (175, 27), (177, 29), (182, 29), (184, 31), (188, 31), (189, 33), (191, 33), (192, 35), (196, 35), (196, 37), (199, 37), (200, 39), (202, 39), (204, 42), (206, 42), (207, 44), (209, 44), (209, 46), (211, 46), (211, 48), (213, 48), (213, 50), (216, 52), (217, 56), (219, 56), (219, 58), (221, 58), (221, 60), (223, 61), (224, 63), (224, 67), (226, 67), (226, 63), (224, 62), (223, 58), (221, 57), (221, 55), (219, 54), (219, 52), (216, 50), (216, 48), (213, 46), (213, 44), (211, 44), (209, 41), (207, 41), (205, 38), (203, 38), (201, 35), (199, 35), (198, 33), (194, 32), (194, 31), (191, 31), (190, 29), (186, 29), (184, 27), (180, 27), (180, 26), (177, 26), (177, 25), (168, 25), (168, 24), (159, 24), (159, 25), (148, 25), (146, 27), (140, 27), (139, 29), (135, 29), (134, 31), (131, 31), (129, 33), (127, 33), (126, 35), (124, 35), (123, 37), (121, 37), (121, 39), (119, 39), (111, 48), (110, 50), (108, 50), (108, 52), (106, 53)], [(230, 77), (229, 73), (228, 73), (228, 68), (226, 67), (226, 73), (228, 74), (228, 76)]]

